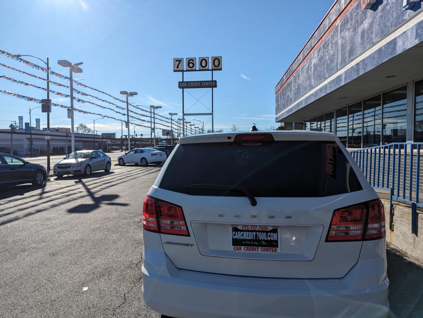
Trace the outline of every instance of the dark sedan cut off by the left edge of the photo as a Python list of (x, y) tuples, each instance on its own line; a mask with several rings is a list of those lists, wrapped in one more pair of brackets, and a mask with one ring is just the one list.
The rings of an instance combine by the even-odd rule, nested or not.
[(46, 168), (17, 156), (0, 153), (0, 186), (32, 183), (42, 185), (47, 179)]

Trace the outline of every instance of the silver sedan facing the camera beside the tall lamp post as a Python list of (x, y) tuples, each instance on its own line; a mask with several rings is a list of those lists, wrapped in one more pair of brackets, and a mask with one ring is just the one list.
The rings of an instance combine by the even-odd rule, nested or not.
[(65, 174), (85, 174), (93, 171), (110, 171), (112, 160), (100, 150), (80, 150), (69, 154), (53, 167), (53, 174), (62, 177)]

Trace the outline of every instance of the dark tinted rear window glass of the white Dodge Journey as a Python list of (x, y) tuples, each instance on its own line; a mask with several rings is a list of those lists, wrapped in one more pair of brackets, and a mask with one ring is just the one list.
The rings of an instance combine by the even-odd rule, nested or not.
[(199, 196), (238, 192), (186, 185), (237, 185), (258, 197), (321, 197), (362, 190), (351, 164), (333, 141), (182, 144), (159, 188)]

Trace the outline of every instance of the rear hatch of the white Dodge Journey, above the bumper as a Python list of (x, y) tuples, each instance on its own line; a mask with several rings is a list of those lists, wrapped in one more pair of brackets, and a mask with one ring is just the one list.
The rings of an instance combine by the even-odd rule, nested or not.
[(343, 277), (362, 241), (328, 241), (332, 216), (375, 199), (374, 190), (363, 190), (333, 135), (245, 135), (175, 149), (148, 193), (161, 211), (149, 216), (162, 226), (165, 253), (178, 268), (202, 272)]

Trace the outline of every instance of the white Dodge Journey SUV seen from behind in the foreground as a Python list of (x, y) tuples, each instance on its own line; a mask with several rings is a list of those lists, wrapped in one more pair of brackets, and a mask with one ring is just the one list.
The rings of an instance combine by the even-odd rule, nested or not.
[[(338, 137), (184, 137), (143, 206), (143, 297), (173, 317), (387, 317), (382, 202)], [(212, 154), (212, 155), (211, 155)]]

